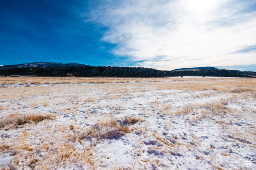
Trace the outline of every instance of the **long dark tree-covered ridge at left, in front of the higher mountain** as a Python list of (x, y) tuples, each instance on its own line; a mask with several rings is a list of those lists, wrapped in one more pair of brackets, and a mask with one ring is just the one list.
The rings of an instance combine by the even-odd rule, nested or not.
[[(69, 73), (69, 74), (68, 74)], [(0, 70), (1, 75), (24, 76), (72, 76), (76, 77), (166, 77), (170, 74), (154, 68), (115, 66), (60, 66), (47, 68), (12, 68)]]

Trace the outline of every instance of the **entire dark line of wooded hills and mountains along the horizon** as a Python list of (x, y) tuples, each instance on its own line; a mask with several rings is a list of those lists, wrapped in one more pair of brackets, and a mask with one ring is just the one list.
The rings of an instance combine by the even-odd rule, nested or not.
[(167, 77), (167, 76), (217, 76), (256, 77), (256, 72), (226, 70), (215, 67), (180, 68), (171, 71), (144, 67), (88, 66), (77, 63), (37, 62), (0, 66), (0, 75), (21, 76), (76, 76), (76, 77)]

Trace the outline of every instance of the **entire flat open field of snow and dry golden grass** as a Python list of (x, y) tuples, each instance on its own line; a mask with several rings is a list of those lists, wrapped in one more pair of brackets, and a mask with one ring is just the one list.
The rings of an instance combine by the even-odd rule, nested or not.
[(256, 79), (1, 77), (0, 136), (0, 169), (256, 169)]

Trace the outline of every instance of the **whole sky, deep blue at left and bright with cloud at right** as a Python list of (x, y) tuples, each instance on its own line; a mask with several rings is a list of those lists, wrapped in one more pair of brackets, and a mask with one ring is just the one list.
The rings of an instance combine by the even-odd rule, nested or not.
[(256, 0), (1, 0), (0, 65), (256, 71)]

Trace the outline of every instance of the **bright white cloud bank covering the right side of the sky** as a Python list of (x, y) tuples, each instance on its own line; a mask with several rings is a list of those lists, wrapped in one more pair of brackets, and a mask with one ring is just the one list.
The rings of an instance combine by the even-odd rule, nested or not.
[[(109, 29), (102, 41), (117, 44), (110, 53), (138, 66), (172, 70), (191, 66), (256, 64), (255, 1), (106, 1), (93, 18)], [(139, 62), (142, 61), (142, 62)]]

